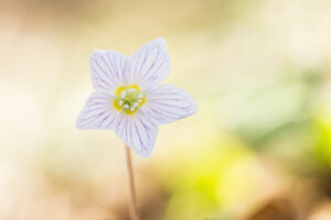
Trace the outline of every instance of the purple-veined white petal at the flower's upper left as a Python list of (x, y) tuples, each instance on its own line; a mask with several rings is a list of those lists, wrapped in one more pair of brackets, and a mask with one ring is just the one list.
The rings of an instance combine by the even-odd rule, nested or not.
[(92, 82), (95, 89), (111, 94), (125, 82), (126, 56), (113, 51), (94, 51), (89, 56)]

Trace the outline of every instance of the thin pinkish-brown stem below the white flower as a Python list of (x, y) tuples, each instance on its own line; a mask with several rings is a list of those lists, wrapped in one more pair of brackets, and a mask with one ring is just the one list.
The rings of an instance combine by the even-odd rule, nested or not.
[(126, 146), (127, 154), (127, 168), (128, 168), (128, 177), (129, 177), (129, 211), (132, 220), (139, 220), (138, 208), (136, 201), (136, 190), (135, 190), (135, 180), (134, 180), (134, 169), (131, 162), (131, 150)]

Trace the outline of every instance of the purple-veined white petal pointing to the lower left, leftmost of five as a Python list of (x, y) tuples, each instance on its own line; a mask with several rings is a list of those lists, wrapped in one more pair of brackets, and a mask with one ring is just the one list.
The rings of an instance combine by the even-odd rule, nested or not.
[(111, 97), (99, 91), (95, 91), (87, 99), (77, 121), (77, 129), (113, 129), (118, 112), (111, 106)]

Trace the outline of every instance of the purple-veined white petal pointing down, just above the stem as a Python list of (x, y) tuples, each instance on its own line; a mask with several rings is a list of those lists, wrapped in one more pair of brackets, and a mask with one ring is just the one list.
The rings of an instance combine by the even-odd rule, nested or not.
[(143, 114), (121, 114), (114, 128), (115, 133), (141, 157), (148, 157), (154, 146), (158, 125)]

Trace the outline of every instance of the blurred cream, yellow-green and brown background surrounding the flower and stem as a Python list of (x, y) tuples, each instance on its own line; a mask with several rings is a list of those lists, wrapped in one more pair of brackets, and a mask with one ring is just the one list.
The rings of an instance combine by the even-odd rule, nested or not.
[(129, 219), (122, 142), (75, 120), (93, 50), (163, 36), (199, 112), (134, 155), (141, 219), (330, 220), (330, 21), (329, 0), (0, 0), (0, 219)]

